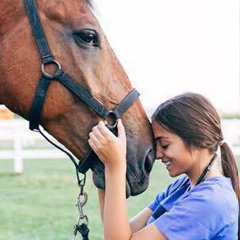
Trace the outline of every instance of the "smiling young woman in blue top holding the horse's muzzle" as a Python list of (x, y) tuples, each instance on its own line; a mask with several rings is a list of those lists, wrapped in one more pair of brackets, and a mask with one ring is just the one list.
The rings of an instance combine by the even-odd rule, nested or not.
[[(184, 174), (130, 222), (125, 200), (126, 137), (100, 122), (89, 144), (105, 165), (99, 190), (105, 240), (237, 240), (239, 178), (220, 119), (203, 96), (186, 93), (161, 104), (152, 117), (156, 158), (172, 177)], [(220, 147), (222, 170), (216, 161)], [(161, 177), (161, 176), (159, 176)]]

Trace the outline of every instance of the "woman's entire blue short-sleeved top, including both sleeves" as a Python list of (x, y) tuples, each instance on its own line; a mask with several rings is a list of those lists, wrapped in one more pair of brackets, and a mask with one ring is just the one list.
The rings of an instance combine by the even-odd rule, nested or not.
[(230, 178), (213, 177), (189, 190), (187, 176), (170, 184), (148, 207), (169, 240), (237, 240), (238, 200)]

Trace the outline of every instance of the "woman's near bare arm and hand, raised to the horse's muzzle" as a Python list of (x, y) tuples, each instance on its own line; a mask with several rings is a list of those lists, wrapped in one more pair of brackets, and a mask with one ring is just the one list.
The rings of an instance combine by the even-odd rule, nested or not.
[(100, 122), (90, 133), (89, 144), (105, 165), (105, 240), (167, 240), (155, 224), (134, 234), (131, 231), (126, 206), (126, 136), (121, 121), (118, 137)]

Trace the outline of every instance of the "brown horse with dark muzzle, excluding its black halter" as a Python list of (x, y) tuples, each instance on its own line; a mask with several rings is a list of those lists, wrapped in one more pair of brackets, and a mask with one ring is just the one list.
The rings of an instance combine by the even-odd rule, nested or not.
[[(132, 86), (90, 1), (36, 0), (36, 4), (54, 58), (107, 109), (113, 109)], [(28, 120), (41, 59), (23, 1), (2, 0), (0, 12), (0, 103)], [(86, 156), (88, 134), (99, 120), (65, 87), (57, 81), (51, 83), (41, 125), (78, 159)], [(136, 195), (147, 188), (154, 162), (152, 131), (139, 100), (123, 114), (122, 120), (128, 141), (127, 190)], [(95, 185), (104, 188), (102, 165), (95, 164), (92, 170)]]

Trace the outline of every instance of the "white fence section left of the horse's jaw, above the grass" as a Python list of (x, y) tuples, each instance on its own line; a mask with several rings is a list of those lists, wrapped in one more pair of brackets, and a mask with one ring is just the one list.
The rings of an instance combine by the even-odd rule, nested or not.
[[(46, 133), (46, 135), (48, 134)], [(48, 137), (51, 140), (53, 139), (50, 135)], [(56, 140), (53, 141), (56, 142)], [(9, 143), (7, 147), (5, 146), (6, 143)], [(42, 145), (41, 148), (38, 148), (39, 143)], [(53, 148), (40, 133), (30, 131), (27, 121), (22, 119), (1, 120), (0, 160), (13, 159), (14, 172), (21, 173), (23, 171), (23, 159), (33, 158), (66, 158), (66, 155)]]

